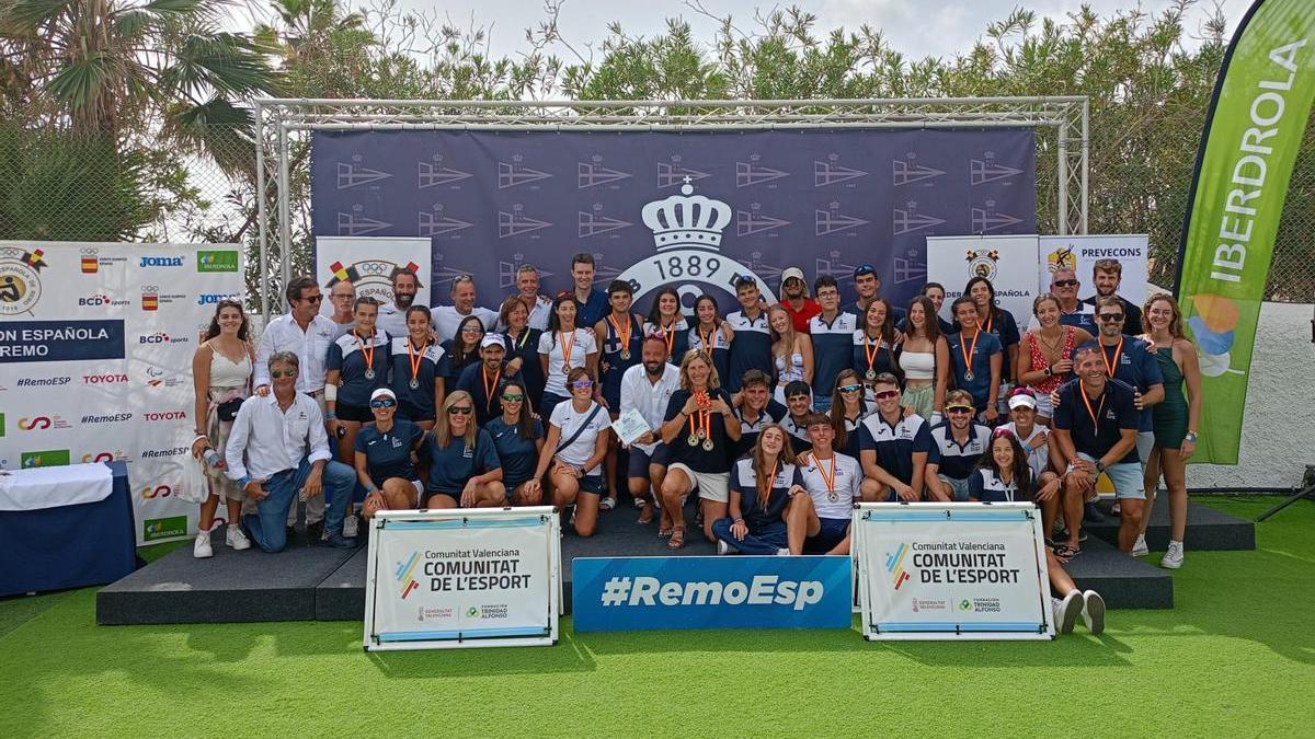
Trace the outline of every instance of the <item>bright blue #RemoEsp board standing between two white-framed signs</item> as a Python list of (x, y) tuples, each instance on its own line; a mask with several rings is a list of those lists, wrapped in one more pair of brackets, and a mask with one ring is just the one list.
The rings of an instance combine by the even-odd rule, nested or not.
[(631, 556), (572, 561), (576, 631), (849, 629), (847, 556)]

